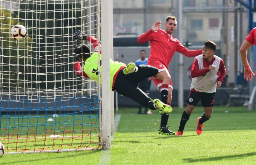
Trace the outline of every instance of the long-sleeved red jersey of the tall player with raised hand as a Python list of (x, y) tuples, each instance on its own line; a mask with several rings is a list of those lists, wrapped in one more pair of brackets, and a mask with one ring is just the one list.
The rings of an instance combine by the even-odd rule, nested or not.
[(160, 61), (168, 68), (175, 51), (187, 56), (195, 57), (202, 54), (202, 50), (188, 50), (185, 46), (168, 34), (165, 30), (159, 29), (153, 32), (151, 29), (138, 38), (138, 43), (150, 41), (150, 56), (148, 64), (153, 61)]

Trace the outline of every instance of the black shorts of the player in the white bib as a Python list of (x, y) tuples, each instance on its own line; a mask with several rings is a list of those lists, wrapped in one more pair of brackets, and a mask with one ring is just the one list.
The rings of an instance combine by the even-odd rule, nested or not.
[(214, 93), (204, 93), (204, 92), (194, 92), (190, 91), (187, 99), (187, 103), (190, 105), (197, 106), (199, 100), (201, 100), (203, 107), (213, 107), (214, 106)]

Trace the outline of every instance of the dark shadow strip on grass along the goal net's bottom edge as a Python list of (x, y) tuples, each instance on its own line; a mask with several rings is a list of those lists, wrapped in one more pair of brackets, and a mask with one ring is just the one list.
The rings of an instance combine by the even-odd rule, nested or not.
[[(23, 161), (21, 161), (21, 160), (19, 160), (19, 161), (11, 161), (11, 160), (13, 160), (13, 159), (10, 159), (10, 160), (8, 160), (7, 162), (1, 162), (1, 165), (2, 164), (14, 164), (14, 163), (23, 163), (23, 162), (26, 162), (26, 164), (35, 164), (35, 163), (33, 163), (33, 162), (35, 162), (35, 161), (41, 161), (41, 160), (51, 160), (51, 159), (56, 159), (56, 157), (58, 158), (58, 159), (61, 159), (61, 158), (67, 158), (67, 157), (70, 157), (70, 159), (72, 159), (73, 157), (75, 157), (75, 156), (80, 156), (80, 155), (88, 155), (88, 156), (90, 156), (90, 154), (95, 154), (95, 153), (97, 153), (97, 152), (101, 152), (102, 150), (100, 150), (100, 149), (95, 149), (95, 150), (92, 150), (92, 152), (90, 152), (90, 151), (75, 151), (77, 154), (72, 154), (72, 155), (65, 155), (65, 156), (53, 156), (53, 157), (48, 157), (48, 156), (45, 156), (45, 157), (41, 157), (40, 159), (33, 159), (33, 160), (28, 160), (28, 159), (26, 159), (26, 160), (23, 160)], [(78, 154), (79, 153), (79, 154)], [(44, 153), (36, 153), (36, 154), (44, 154)], [(60, 154), (60, 153), (54, 153), (54, 154)]]

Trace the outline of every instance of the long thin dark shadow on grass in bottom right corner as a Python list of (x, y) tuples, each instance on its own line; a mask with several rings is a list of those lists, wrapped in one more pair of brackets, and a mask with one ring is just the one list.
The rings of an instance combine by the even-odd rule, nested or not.
[(228, 156), (216, 156), (216, 157), (207, 157), (207, 158), (198, 158), (198, 159), (193, 159), (193, 158), (185, 158), (182, 159), (183, 161), (186, 161), (188, 163), (194, 163), (194, 162), (201, 162), (201, 161), (216, 161), (216, 160), (223, 160), (223, 159), (241, 159), (244, 157), (248, 156), (255, 156), (256, 153), (246, 153), (246, 154), (237, 154), (237, 155), (228, 155)]

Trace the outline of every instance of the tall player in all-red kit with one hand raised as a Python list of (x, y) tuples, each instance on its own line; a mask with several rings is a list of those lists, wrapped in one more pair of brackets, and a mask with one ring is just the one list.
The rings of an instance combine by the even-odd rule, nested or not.
[[(153, 27), (138, 38), (139, 43), (150, 41), (150, 55), (148, 65), (158, 68), (158, 74), (153, 77), (153, 82), (161, 93), (162, 102), (171, 105), (172, 101), (172, 79), (169, 74), (168, 64), (171, 62), (175, 51), (187, 56), (195, 57), (202, 54), (200, 50), (188, 50), (185, 46), (172, 37), (172, 33), (177, 28), (177, 19), (174, 16), (168, 16), (164, 24), (165, 30), (160, 29), (161, 22), (156, 22)], [(159, 134), (174, 135), (167, 127), (169, 114), (162, 113)]]

